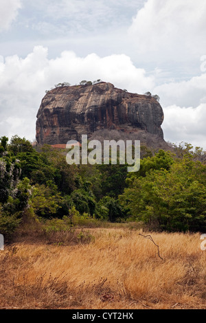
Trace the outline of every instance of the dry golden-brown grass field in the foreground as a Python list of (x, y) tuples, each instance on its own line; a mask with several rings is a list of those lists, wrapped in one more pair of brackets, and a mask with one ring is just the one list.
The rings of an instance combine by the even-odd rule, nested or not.
[(206, 309), (200, 234), (150, 233), (158, 255), (139, 233), (95, 228), (88, 241), (6, 245), (0, 308)]

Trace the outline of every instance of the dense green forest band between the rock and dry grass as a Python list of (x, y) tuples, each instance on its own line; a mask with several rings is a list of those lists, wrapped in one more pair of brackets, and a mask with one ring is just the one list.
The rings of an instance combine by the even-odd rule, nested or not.
[(139, 172), (126, 165), (68, 165), (66, 152), (37, 151), (17, 135), (0, 144), (0, 233), (26, 219), (138, 222), (149, 230), (206, 231), (206, 164), (202, 148), (141, 146)]

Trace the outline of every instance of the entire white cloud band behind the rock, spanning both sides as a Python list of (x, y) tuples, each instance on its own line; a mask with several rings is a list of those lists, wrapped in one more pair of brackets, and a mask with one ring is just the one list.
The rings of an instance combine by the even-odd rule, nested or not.
[(146, 74), (125, 54), (80, 57), (65, 51), (49, 58), (46, 47), (36, 46), (25, 58), (1, 57), (0, 137), (17, 134), (34, 140), (36, 113), (45, 90), (58, 82), (75, 85), (81, 80), (101, 79), (133, 93), (158, 94), (165, 114), (165, 140), (190, 142), (206, 149), (206, 74), (157, 86), (161, 71), (156, 72), (153, 76)]

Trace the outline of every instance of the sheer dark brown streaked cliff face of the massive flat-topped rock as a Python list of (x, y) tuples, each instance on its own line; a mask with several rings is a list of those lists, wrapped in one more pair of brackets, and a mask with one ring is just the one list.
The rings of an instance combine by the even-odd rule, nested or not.
[[(163, 140), (163, 110), (155, 98), (116, 89), (111, 83), (58, 87), (41, 102), (36, 121), (38, 144), (67, 144), (95, 132), (149, 133)], [(137, 134), (137, 136), (136, 136)], [(115, 139), (115, 138), (114, 138)]]

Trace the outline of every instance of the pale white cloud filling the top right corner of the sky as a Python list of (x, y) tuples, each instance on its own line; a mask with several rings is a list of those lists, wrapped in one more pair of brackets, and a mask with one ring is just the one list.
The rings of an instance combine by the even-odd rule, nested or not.
[(147, 0), (128, 32), (137, 50), (159, 60), (205, 54), (205, 0)]

